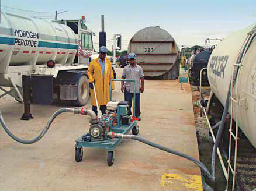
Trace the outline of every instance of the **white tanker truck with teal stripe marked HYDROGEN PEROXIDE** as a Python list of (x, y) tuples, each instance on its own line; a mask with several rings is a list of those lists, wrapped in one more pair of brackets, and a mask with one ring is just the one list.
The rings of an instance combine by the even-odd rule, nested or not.
[(0, 89), (4, 94), (0, 97), (9, 94), (23, 102), (22, 79), (29, 75), (34, 103), (85, 105), (93, 35), (83, 16), (46, 22), (1, 12)]

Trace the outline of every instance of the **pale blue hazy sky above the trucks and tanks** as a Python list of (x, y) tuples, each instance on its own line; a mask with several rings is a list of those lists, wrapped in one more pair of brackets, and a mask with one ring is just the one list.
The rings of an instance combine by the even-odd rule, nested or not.
[[(225, 38), (233, 31), (255, 24), (255, 0), (130, 0), (130, 1), (18, 1), (2, 0), (2, 6), (33, 10), (33, 13), (2, 7), (2, 10), (54, 19), (55, 11), (63, 12), (57, 19), (80, 19), (85, 15), (86, 24), (95, 32), (94, 48), (98, 49), (101, 15), (105, 16), (107, 40), (113, 34), (122, 34), (122, 50), (127, 49), (132, 36), (149, 26), (160, 26), (168, 31), (179, 47), (205, 45), (206, 38)], [(216, 44), (211, 41), (210, 44)], [(113, 41), (107, 47), (112, 49)]]

